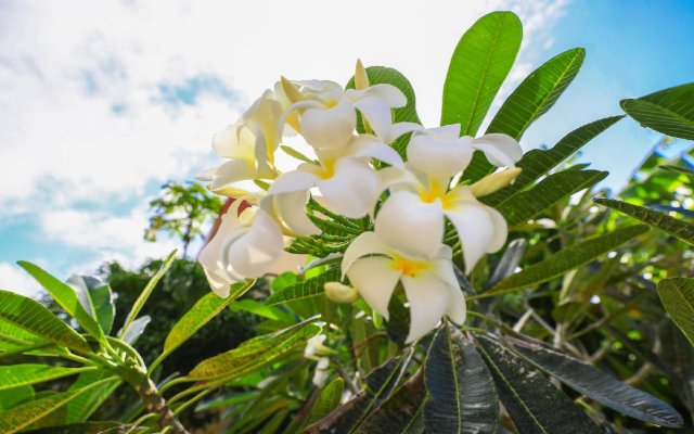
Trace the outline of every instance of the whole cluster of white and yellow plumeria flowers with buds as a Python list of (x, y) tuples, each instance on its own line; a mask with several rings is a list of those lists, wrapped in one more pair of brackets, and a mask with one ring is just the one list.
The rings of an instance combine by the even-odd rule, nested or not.
[[(350, 303), (359, 294), (387, 320), (390, 298), (401, 286), (410, 308), (407, 341), (414, 342), (445, 316), (465, 321), (453, 252), (444, 243), (446, 221), (460, 240), (465, 272), (500, 250), (506, 222), (478, 197), (513, 181), (522, 149), (501, 133), (461, 137), (460, 125), (395, 123), (394, 108), (407, 104), (406, 95), (391, 85), (370, 85), (360, 62), (355, 85), (343, 89), (333, 81), (282, 77), (214, 137), (214, 150), (227, 162), (198, 179), (236, 201), (200, 261), (220, 296), (232, 283), (277, 272), (293, 240), (321, 234), (307, 214), (312, 195), (330, 213), (373, 221), (373, 230), (343, 250), (342, 281), (326, 283), (329, 298)], [(367, 132), (357, 132), (358, 117)], [(312, 156), (286, 146), (285, 139), (297, 135)], [(404, 161), (391, 148), (403, 135), (410, 135)], [(280, 149), (301, 163), (282, 173), (275, 161)], [(499, 170), (472, 184), (459, 182), (475, 151)], [(249, 181), (261, 191), (242, 187)], [(253, 206), (240, 213), (244, 201)]]

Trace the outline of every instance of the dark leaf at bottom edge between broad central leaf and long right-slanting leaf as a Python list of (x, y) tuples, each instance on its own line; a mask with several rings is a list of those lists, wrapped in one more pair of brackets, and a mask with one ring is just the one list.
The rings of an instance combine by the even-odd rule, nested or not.
[(540, 371), (491, 339), (479, 336), (478, 342), (501, 401), (520, 433), (602, 433)]

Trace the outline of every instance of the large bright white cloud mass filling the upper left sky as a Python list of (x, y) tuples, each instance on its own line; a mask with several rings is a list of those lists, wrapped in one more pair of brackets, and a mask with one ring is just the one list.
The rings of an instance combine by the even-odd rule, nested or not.
[[(280, 74), (345, 81), (357, 58), (393, 66), (434, 125), (450, 53), (476, 18), (514, 10), (532, 42), (566, 3), (2, 2), (0, 221), (40, 204), (39, 229), (66, 246), (98, 259), (158, 254), (168, 247), (142, 241), (145, 209), (114, 216), (114, 204), (214, 162), (211, 133)], [(177, 91), (191, 100), (185, 87), (201, 77), (209, 92), (166, 103)]]

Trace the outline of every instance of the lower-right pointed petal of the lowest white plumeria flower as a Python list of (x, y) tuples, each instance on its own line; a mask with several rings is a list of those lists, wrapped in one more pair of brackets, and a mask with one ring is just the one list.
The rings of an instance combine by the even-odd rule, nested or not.
[(432, 272), (403, 276), (402, 285), (410, 303), (410, 333), (406, 342), (412, 343), (439, 323), (448, 310), (450, 288)]

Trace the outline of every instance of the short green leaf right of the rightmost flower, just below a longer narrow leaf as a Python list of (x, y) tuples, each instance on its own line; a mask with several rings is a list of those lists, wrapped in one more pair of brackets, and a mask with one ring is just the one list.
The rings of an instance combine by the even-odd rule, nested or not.
[(513, 201), (499, 205), (497, 209), (513, 227), (528, 221), (562, 199), (594, 186), (607, 175), (607, 171), (600, 170), (560, 171), (548, 176), (531, 190), (516, 194)]

